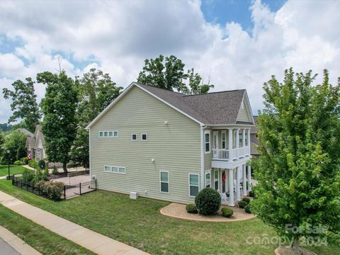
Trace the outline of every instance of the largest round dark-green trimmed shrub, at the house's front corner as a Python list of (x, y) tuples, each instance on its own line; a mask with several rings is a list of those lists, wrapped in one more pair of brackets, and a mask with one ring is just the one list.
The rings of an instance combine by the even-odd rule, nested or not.
[(203, 188), (203, 190), (197, 194), (195, 204), (200, 214), (213, 215), (221, 207), (220, 193), (213, 188)]

